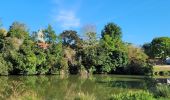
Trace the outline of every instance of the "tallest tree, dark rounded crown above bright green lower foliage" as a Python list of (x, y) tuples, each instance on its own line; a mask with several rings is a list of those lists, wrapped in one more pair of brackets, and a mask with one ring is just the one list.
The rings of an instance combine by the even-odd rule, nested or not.
[(126, 66), (128, 59), (121, 35), (121, 28), (114, 23), (108, 23), (102, 30), (97, 56), (97, 69), (101, 72), (110, 72), (117, 67)]

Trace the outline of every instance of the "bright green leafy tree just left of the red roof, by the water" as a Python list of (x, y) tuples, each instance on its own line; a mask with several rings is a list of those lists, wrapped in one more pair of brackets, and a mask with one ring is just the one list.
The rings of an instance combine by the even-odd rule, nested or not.
[(34, 53), (34, 42), (32, 40), (24, 40), (21, 45), (18, 56), (21, 57), (22, 65), (18, 66), (18, 69), (21, 70), (20, 73), (23, 74), (37, 74), (37, 57)]

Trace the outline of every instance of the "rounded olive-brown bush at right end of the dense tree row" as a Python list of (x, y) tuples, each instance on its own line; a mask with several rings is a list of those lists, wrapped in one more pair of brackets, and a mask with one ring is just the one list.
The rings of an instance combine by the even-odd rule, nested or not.
[(151, 68), (147, 59), (148, 56), (144, 51), (133, 45), (127, 45), (129, 65), (126, 67), (126, 72), (129, 74), (146, 74), (150, 73)]

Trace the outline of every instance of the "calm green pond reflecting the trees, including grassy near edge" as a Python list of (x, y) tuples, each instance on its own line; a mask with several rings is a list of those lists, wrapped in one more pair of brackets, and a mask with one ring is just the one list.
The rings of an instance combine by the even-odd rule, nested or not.
[(144, 76), (1, 76), (0, 99), (72, 100), (77, 95), (88, 95), (105, 100), (112, 94), (146, 90), (151, 86), (152, 82)]

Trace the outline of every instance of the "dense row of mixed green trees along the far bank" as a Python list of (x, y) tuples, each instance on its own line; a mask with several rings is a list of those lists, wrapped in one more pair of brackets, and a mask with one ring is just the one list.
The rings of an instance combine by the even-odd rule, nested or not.
[[(8, 30), (0, 27), (0, 75), (144, 75), (152, 70), (148, 59), (153, 57), (151, 50), (155, 50), (150, 49), (150, 45), (156, 42), (143, 47), (126, 43), (122, 40), (121, 28), (115, 23), (106, 24), (99, 39), (95, 31), (85, 31), (84, 38), (75, 30), (64, 30), (57, 35), (51, 25), (42, 32), (49, 44), (47, 49), (37, 45), (37, 32), (29, 32), (23, 23), (13, 22)], [(167, 44), (160, 43), (170, 46), (170, 39), (166, 38)]]

